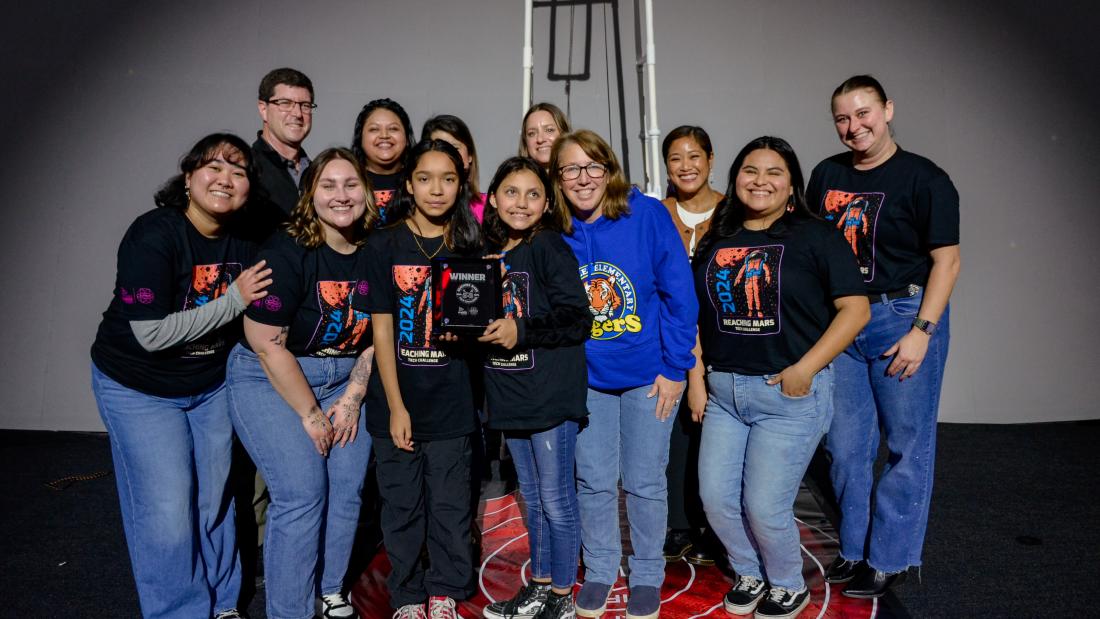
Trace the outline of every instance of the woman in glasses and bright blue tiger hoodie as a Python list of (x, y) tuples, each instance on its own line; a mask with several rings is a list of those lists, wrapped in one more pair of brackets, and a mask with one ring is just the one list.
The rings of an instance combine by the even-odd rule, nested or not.
[(631, 189), (610, 146), (591, 131), (562, 135), (550, 156), (557, 199), (570, 206), (565, 242), (592, 312), (588, 424), (576, 439), (586, 567), (576, 614), (600, 617), (623, 556), (618, 482), (634, 549), (630, 619), (660, 612), (668, 484), (664, 468), (685, 374), (695, 365), (698, 306), (680, 235), (660, 202)]

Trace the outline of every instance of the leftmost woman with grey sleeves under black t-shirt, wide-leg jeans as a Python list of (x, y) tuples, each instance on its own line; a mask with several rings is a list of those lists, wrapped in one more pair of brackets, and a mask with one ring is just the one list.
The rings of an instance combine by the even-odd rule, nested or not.
[(234, 225), (256, 186), (248, 144), (208, 135), (179, 172), (119, 246), (91, 387), (142, 614), (238, 617), (226, 356), (272, 272)]

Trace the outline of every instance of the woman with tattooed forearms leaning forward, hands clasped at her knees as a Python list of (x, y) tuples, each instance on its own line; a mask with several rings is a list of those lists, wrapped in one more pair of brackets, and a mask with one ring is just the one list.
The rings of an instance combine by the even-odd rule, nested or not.
[(355, 617), (342, 593), (371, 454), (362, 401), (371, 373), (370, 184), (344, 148), (320, 153), (285, 231), (261, 256), (267, 298), (249, 307), (228, 383), (233, 425), (267, 482), (270, 617)]

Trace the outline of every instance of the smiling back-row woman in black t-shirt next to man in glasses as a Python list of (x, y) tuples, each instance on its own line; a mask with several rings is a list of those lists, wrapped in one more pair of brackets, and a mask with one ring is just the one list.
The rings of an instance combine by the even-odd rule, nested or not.
[(389, 207), (400, 186), (406, 152), (414, 143), (408, 112), (393, 99), (374, 99), (355, 117), (351, 151), (371, 180), (378, 225), (396, 221)]

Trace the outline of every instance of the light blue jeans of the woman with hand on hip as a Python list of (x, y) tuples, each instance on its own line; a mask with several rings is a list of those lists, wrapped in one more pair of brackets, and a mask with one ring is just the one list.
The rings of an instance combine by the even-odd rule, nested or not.
[(833, 371), (818, 372), (810, 394), (799, 398), (767, 380), (707, 375), (700, 497), (738, 575), (802, 590), (794, 498), (833, 417)]

